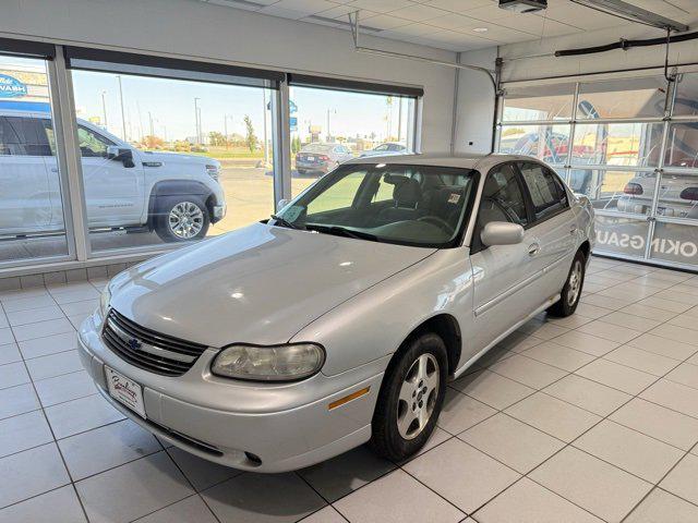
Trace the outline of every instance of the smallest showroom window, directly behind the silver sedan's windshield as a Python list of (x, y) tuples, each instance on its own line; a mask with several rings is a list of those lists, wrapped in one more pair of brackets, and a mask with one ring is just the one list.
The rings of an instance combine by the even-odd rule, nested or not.
[(291, 194), (358, 157), (414, 153), (421, 89), (291, 75)]

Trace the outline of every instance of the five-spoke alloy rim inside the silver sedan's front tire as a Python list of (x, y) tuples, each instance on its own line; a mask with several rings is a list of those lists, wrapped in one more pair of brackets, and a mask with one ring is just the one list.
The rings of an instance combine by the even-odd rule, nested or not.
[(397, 429), (402, 438), (414, 439), (426, 427), (438, 397), (438, 362), (432, 354), (414, 360), (397, 402)]

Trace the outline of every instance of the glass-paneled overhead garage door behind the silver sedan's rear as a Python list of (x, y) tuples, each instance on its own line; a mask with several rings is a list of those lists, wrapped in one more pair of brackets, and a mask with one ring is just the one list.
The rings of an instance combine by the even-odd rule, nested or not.
[(698, 73), (631, 80), (506, 86), (498, 150), (546, 161), (589, 197), (595, 252), (695, 268)]

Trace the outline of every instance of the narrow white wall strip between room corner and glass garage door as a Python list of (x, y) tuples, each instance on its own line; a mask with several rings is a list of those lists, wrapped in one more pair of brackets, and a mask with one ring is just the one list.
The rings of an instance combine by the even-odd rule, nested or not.
[[(464, 52), (460, 63), (494, 70), (496, 48)], [(492, 147), (494, 89), (483, 73), (460, 70), (456, 104), (455, 151), (486, 154)]]

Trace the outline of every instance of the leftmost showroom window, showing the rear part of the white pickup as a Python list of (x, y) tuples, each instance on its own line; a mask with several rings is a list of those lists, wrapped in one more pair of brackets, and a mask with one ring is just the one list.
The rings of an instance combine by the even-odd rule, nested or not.
[(53, 48), (13, 47), (3, 54), (0, 41), (0, 267), (71, 254), (52, 133)]

